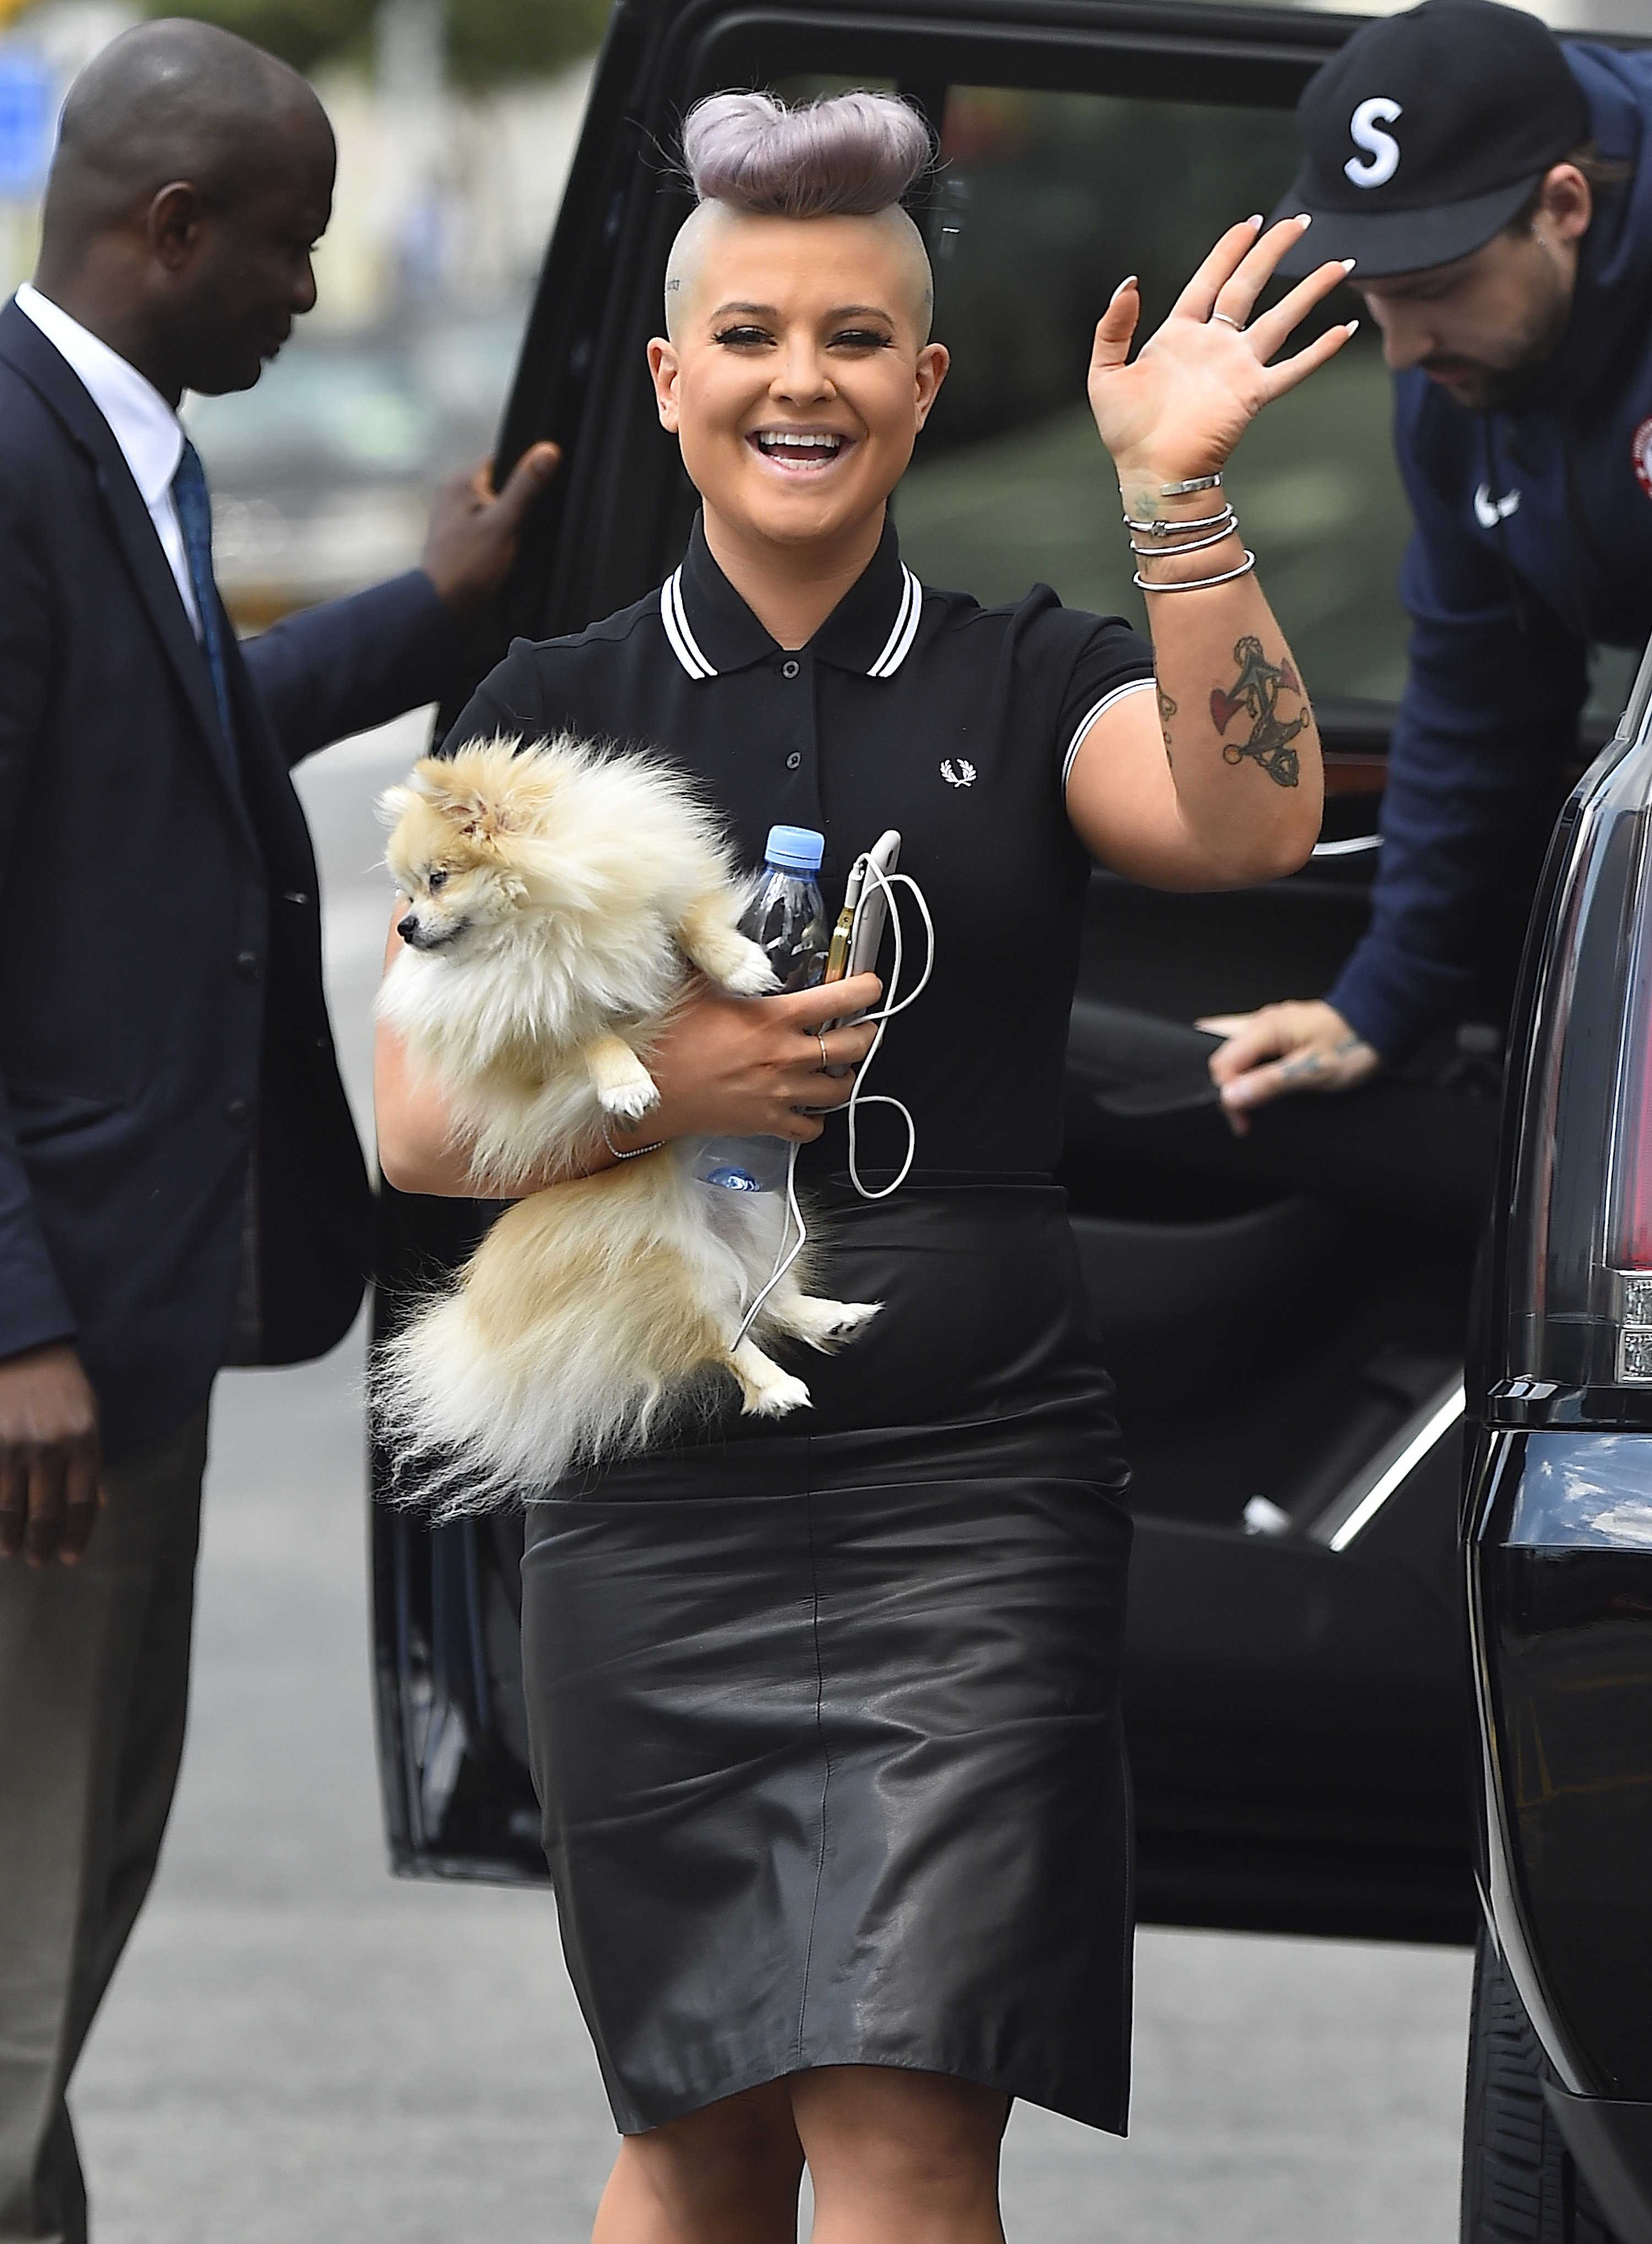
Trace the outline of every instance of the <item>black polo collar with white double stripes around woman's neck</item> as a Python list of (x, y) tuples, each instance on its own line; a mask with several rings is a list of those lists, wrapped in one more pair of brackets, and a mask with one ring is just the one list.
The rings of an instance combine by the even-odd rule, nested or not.
[[(884, 521), (878, 552), (808, 642), (808, 653), (866, 678), (893, 678), (911, 653), (923, 586), (900, 559), (896, 525)], [(696, 516), (682, 568), (660, 586), (660, 622), (671, 653), (694, 680), (743, 671), (781, 653), (712, 559), (705, 516)]]

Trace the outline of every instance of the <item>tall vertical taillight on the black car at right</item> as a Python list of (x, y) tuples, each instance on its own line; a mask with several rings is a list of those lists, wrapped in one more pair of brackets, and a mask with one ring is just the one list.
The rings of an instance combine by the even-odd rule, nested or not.
[(1508, 1376), (1652, 1389), (1652, 651), (1562, 819), (1508, 1210)]

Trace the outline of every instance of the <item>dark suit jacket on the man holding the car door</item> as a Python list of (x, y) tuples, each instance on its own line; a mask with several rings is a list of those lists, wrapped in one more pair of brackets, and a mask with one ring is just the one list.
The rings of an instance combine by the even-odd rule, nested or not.
[(236, 747), (108, 422), (0, 310), (0, 1358), (76, 1340), (110, 1452), (231, 1353), (256, 1156), (260, 1358), (348, 1328), (373, 1198), (290, 765), (440, 698), (422, 572), (229, 646)]

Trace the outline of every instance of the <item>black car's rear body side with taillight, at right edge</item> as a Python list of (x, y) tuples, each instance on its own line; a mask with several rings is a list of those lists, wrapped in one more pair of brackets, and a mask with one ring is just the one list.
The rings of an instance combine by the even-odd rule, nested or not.
[(1652, 2240), (1652, 655), (1520, 996), (1466, 1488), (1479, 1871), (1558, 2143)]

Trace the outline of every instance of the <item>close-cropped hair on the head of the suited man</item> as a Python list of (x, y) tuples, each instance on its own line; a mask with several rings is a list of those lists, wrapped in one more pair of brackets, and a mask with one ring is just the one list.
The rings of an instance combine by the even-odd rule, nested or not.
[(43, 263), (79, 263), (85, 245), (141, 220), (189, 182), (227, 209), (269, 175), (278, 144), (330, 126), (312, 88), (233, 31), (184, 16), (137, 25), (70, 88), (43, 213)]

